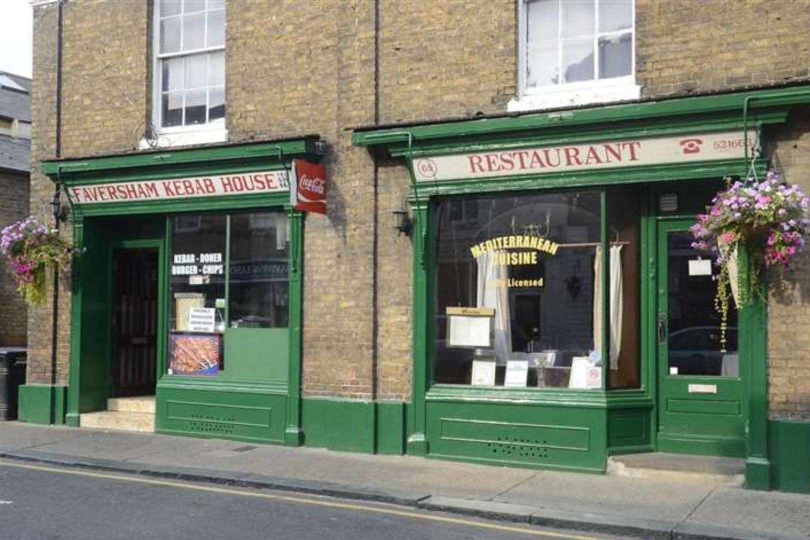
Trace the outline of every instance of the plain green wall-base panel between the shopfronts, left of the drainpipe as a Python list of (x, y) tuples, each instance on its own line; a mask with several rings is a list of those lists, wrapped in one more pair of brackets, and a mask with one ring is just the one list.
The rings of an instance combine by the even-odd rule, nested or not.
[(374, 403), (329, 398), (301, 400), (304, 444), (344, 452), (374, 452)]

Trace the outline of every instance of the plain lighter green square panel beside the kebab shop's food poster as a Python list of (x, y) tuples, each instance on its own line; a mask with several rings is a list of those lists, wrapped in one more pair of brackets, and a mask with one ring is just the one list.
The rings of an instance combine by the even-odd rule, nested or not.
[(287, 381), (289, 339), (289, 330), (286, 328), (226, 329), (225, 370), (218, 378)]

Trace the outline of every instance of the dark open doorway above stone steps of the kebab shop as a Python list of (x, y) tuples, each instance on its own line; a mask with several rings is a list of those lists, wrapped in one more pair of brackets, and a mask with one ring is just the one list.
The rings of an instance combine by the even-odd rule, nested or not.
[(155, 393), (157, 375), (158, 252), (113, 252), (113, 398)]

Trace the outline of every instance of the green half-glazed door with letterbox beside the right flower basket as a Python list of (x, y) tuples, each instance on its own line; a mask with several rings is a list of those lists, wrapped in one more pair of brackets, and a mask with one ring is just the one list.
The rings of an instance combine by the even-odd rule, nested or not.
[(725, 343), (714, 307), (718, 269), (692, 247), (693, 219), (659, 223), (658, 448), (664, 452), (744, 455), (744, 369), (737, 309), (728, 309)]

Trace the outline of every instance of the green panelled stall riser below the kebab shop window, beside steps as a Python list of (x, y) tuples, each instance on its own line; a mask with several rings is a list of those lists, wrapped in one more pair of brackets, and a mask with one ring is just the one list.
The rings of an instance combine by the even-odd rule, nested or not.
[(268, 389), (161, 388), (156, 432), (283, 443), (287, 393)]

